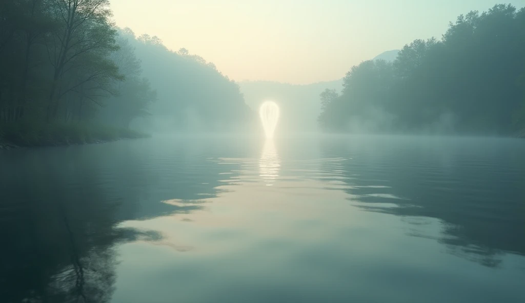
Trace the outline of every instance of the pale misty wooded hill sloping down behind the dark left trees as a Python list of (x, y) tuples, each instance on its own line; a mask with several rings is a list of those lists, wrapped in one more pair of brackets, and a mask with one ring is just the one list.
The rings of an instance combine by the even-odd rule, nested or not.
[(122, 35), (157, 91), (148, 119), (153, 131), (231, 131), (254, 120), (239, 85), (212, 62), (185, 48), (172, 51), (156, 36), (135, 37), (129, 28)]

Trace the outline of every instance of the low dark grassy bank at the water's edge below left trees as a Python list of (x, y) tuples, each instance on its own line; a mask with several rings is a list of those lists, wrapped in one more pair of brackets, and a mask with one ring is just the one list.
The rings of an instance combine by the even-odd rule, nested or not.
[(0, 124), (0, 149), (93, 144), (149, 137), (131, 129), (93, 124)]

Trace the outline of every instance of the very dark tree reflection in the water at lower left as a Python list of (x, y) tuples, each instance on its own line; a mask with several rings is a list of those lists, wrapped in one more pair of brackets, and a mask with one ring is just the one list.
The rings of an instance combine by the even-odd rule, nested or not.
[(141, 212), (150, 176), (141, 173), (140, 157), (98, 157), (112, 153), (104, 148), (18, 150), (0, 158), (2, 302), (108, 302), (115, 247), (162, 239), (119, 223), (197, 208), (159, 202)]

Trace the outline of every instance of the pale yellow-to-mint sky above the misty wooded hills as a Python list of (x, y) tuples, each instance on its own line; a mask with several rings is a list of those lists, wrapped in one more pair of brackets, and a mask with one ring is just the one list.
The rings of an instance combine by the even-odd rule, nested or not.
[[(503, 2), (501, 2), (503, 1)], [(236, 81), (330, 81), (362, 60), (496, 3), (525, 0), (111, 0), (114, 21), (215, 63)]]

